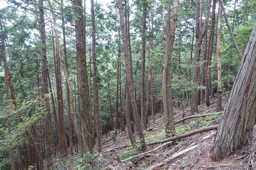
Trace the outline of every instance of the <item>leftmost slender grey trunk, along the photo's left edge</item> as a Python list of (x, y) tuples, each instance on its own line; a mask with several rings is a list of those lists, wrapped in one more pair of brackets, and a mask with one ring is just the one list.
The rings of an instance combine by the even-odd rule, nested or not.
[[(0, 20), (0, 29), (3, 28), (2, 25), (2, 21)], [(1, 32), (3, 32), (3, 30), (1, 29)], [(8, 85), (8, 73), (7, 73), (7, 69), (8, 69), (8, 64), (7, 64), (7, 60), (6, 60), (6, 50), (5, 50), (5, 40), (4, 37), (5, 35), (1, 35), (0, 39), (1, 39), (1, 58), (3, 59), (3, 64), (4, 64), (4, 69), (5, 69), (5, 99), (6, 99), (6, 113), (7, 113), (7, 124), (8, 124), (8, 134), (11, 135), (12, 132), (12, 126), (11, 126), (11, 113), (9, 111), (9, 85)], [(15, 170), (15, 164), (14, 164), (14, 150), (13, 150), (13, 144), (12, 144), (12, 140), (9, 141), (9, 146), (10, 146), (10, 157), (11, 157), (11, 170)]]

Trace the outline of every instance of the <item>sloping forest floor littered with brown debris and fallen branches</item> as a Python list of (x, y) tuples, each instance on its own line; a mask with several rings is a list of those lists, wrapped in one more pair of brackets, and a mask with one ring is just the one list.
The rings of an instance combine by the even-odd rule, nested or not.
[[(229, 93), (222, 96), (222, 108), (225, 107)], [(198, 114), (216, 113), (217, 99), (210, 100), (210, 107), (200, 105)], [(174, 108), (175, 121), (182, 119), (182, 114), (190, 116), (189, 107)], [(188, 114), (188, 115), (187, 115)], [(221, 114), (211, 114), (210, 116), (187, 119), (184, 122), (176, 124), (176, 135), (186, 134), (192, 130), (203, 128), (205, 126), (217, 125)], [(158, 113), (153, 123), (150, 117), (150, 129), (144, 131), (146, 143), (165, 139), (165, 130), (163, 115)], [(253, 132), (253, 141), (248, 143), (237, 152), (230, 153), (223, 161), (212, 161), (212, 150), (215, 140), (216, 130), (206, 131), (190, 135), (180, 140), (169, 141), (169, 143), (158, 143), (148, 145), (147, 152), (143, 153), (139, 148), (139, 135), (134, 134), (138, 141), (137, 147), (131, 147), (130, 139), (126, 132), (118, 134), (116, 142), (108, 138), (102, 139), (103, 152), (98, 154), (94, 166), (86, 165), (79, 168), (79, 164), (66, 166), (68, 170), (72, 169), (101, 169), (101, 170), (250, 170), (256, 167), (256, 126)], [(155, 150), (153, 150), (156, 148)], [(153, 150), (151, 152), (151, 150)], [(95, 152), (97, 149), (95, 148)], [(184, 152), (184, 153), (183, 153)], [(140, 155), (139, 155), (140, 154)], [(144, 155), (143, 155), (144, 154)], [(180, 154), (180, 155), (178, 155)], [(132, 158), (131, 157), (135, 157)], [(178, 157), (176, 158), (176, 156)], [(128, 160), (130, 159), (130, 160)], [(84, 161), (84, 159), (83, 159)], [(82, 160), (81, 160), (82, 162)], [(254, 167), (253, 167), (254, 164)], [(98, 165), (98, 166), (95, 166)]]

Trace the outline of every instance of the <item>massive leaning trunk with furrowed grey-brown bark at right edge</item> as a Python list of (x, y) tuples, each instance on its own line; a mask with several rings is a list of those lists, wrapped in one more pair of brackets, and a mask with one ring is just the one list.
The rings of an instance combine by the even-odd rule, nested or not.
[(238, 75), (224, 108), (213, 147), (213, 160), (221, 161), (251, 140), (256, 117), (256, 23), (254, 23)]

